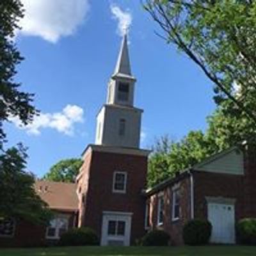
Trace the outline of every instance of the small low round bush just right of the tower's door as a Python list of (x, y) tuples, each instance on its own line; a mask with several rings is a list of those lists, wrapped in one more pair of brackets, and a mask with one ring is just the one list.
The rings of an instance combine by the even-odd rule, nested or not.
[(170, 236), (163, 230), (152, 230), (141, 238), (143, 246), (167, 246)]

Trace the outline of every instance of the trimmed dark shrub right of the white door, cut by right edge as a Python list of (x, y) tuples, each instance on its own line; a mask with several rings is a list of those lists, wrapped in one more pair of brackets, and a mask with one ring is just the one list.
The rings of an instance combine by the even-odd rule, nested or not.
[(236, 229), (239, 243), (256, 245), (256, 218), (239, 220)]

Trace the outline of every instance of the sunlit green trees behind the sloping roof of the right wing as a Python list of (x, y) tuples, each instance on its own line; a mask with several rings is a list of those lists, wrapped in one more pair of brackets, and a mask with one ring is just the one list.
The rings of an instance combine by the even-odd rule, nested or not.
[(205, 132), (190, 131), (176, 142), (167, 136), (156, 141), (148, 163), (148, 187), (174, 177), (205, 157), (251, 138), (255, 132), (248, 118), (229, 114), (222, 106), (207, 118), (207, 123)]

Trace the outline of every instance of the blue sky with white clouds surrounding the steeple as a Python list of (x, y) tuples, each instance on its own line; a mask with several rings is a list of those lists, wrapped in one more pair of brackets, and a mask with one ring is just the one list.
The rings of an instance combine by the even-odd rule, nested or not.
[(95, 116), (106, 101), (120, 48), (118, 28), (129, 21), (132, 73), (138, 79), (135, 105), (145, 110), (141, 145), (150, 147), (163, 134), (179, 140), (192, 129), (205, 129), (215, 108), (211, 82), (155, 35), (160, 30), (140, 1), (22, 1), (27, 16), (16, 40), (26, 60), (16, 79), (22, 90), (35, 93), (41, 115), (22, 129), (14, 120), (6, 131), (8, 145), (22, 141), (29, 147), (29, 171), (41, 177), (94, 142)]

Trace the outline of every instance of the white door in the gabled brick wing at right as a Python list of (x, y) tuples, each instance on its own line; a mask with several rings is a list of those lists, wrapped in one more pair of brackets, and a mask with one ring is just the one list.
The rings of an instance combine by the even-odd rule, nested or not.
[(234, 209), (233, 204), (208, 203), (208, 220), (212, 224), (211, 243), (235, 243)]

